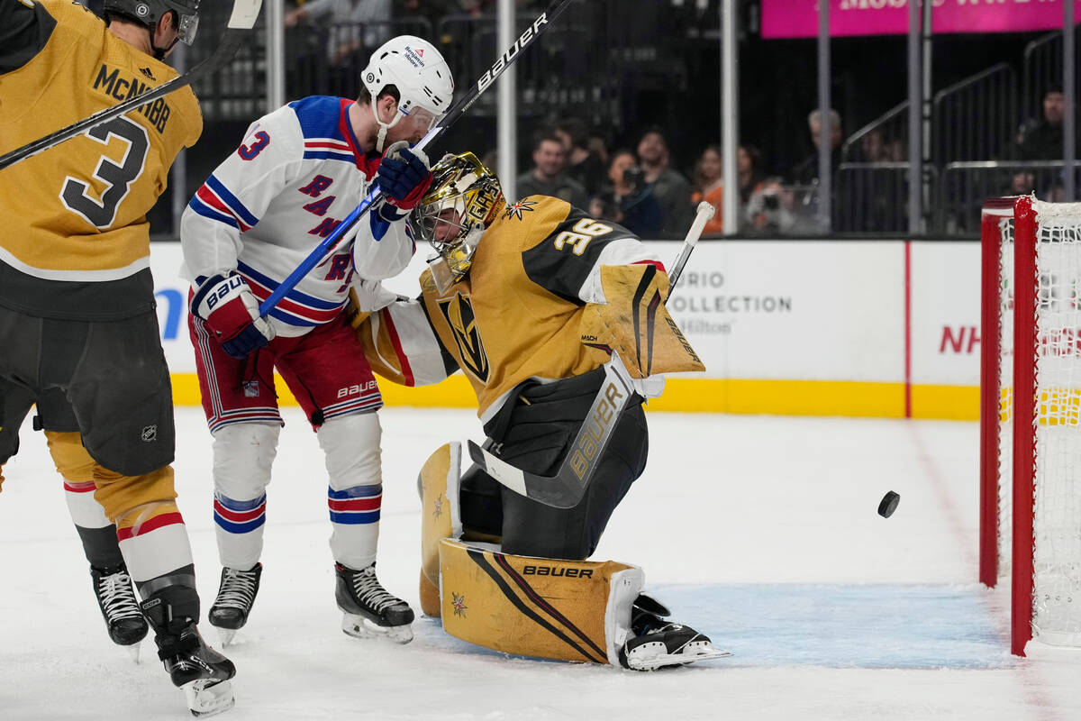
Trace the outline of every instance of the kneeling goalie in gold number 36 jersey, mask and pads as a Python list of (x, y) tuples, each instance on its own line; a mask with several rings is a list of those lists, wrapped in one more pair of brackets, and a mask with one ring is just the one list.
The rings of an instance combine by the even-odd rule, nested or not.
[(538, 475), (563, 463), (613, 351), (637, 393), (573, 508), (509, 491), (479, 466), (459, 478), (456, 443), (428, 459), (425, 613), (454, 636), (529, 656), (652, 669), (726, 655), (666, 620), (668, 610), (640, 592), (640, 569), (585, 560), (645, 467), (642, 402), (658, 395), (656, 374), (704, 368), (664, 308), (659, 261), (625, 228), (557, 198), (508, 204), (472, 153), (443, 158), (432, 174), (413, 216), (439, 252), (419, 298), (381, 289), (358, 298), (365, 312), (355, 324), (373, 370), (405, 385), (461, 370), (489, 450)]

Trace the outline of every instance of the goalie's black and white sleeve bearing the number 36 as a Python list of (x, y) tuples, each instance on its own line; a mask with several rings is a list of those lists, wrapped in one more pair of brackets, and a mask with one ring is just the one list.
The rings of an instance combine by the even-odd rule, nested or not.
[(601, 266), (649, 263), (664, 270), (660, 258), (646, 251), (629, 230), (572, 208), (547, 237), (522, 252), (525, 275), (561, 298), (584, 305), (604, 303)]

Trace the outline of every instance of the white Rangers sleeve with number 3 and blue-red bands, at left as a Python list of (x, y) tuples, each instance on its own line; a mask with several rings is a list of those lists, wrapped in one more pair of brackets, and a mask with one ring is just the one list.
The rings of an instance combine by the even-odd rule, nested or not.
[(243, 233), (296, 179), (304, 138), (289, 107), (259, 119), (196, 191), (181, 218), (182, 275), (190, 281), (237, 268)]

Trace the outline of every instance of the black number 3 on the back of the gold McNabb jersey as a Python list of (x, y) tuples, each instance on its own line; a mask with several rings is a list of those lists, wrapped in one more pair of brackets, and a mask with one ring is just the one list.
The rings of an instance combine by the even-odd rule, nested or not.
[(61, 201), (65, 208), (81, 215), (95, 228), (105, 229), (116, 219), (117, 209), (131, 191), (132, 183), (143, 174), (150, 139), (145, 128), (123, 116), (88, 130), (86, 135), (102, 145), (108, 145), (112, 137), (119, 137), (128, 144), (119, 164), (105, 155), (97, 163), (94, 177), (105, 183), (101, 200), (93, 198), (85, 182), (70, 175), (65, 178), (61, 191)]

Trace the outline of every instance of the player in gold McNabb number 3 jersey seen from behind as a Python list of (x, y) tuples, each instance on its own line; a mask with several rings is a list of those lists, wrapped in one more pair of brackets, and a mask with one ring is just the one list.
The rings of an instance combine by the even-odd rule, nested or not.
[[(0, 0), (0, 152), (176, 77), (162, 59), (193, 39), (198, 5), (106, 0), (106, 25), (68, 0)], [(184, 88), (0, 171), (0, 463), (37, 404), (66, 488), (104, 508), (85, 526), (74, 513), (88, 557), (119, 542), (119, 568), (91, 558), (103, 614), (138, 635), (130, 573), (172, 681), (214, 712), (231, 706), (235, 670), (196, 627), (146, 221), (201, 131)]]

